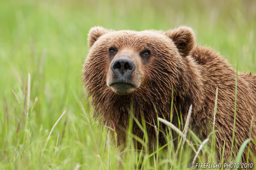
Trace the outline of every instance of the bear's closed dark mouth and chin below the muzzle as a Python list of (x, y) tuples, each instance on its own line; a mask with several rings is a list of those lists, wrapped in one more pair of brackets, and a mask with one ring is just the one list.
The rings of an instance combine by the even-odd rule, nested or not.
[(110, 84), (110, 88), (119, 95), (129, 94), (130, 92), (136, 89), (136, 87), (133, 84), (124, 82), (112, 83)]

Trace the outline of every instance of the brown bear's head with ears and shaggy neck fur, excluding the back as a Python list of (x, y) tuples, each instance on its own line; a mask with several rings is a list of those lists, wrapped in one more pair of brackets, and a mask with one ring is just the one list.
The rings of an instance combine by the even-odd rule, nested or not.
[[(83, 83), (94, 116), (101, 115), (107, 126), (126, 126), (131, 103), (137, 119), (144, 111), (153, 124), (156, 112), (170, 118), (172, 99), (177, 109), (185, 110), (202, 102), (202, 76), (189, 56), (195, 45), (191, 28), (138, 32), (94, 27), (88, 43)], [(199, 109), (196, 106), (193, 110)]]

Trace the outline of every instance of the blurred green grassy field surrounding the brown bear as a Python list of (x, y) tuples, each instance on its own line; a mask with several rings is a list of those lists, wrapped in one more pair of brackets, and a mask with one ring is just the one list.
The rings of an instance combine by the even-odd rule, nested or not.
[[(0, 169), (117, 169), (118, 162), (124, 169), (188, 169), (189, 148), (177, 156), (169, 144), (144, 154), (129, 143), (119, 154), (98, 128), (80, 82), (87, 33), (97, 25), (138, 31), (188, 25), (198, 44), (256, 73), (254, 0), (1, 1)], [(207, 146), (199, 155), (198, 162), (214, 157)]]

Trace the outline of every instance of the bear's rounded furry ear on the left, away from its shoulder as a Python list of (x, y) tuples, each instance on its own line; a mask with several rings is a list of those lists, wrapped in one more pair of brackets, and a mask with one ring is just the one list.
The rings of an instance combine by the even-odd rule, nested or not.
[(88, 46), (91, 48), (100, 36), (108, 32), (110, 32), (108, 29), (99, 26), (91, 28), (88, 33)]

